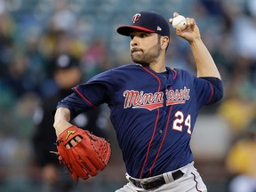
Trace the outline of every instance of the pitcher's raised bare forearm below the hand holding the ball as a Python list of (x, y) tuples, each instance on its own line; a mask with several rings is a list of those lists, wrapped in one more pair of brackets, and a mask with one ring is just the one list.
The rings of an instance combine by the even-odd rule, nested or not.
[(190, 47), (196, 62), (197, 76), (212, 76), (221, 79), (219, 70), (202, 40), (198, 38), (190, 42)]

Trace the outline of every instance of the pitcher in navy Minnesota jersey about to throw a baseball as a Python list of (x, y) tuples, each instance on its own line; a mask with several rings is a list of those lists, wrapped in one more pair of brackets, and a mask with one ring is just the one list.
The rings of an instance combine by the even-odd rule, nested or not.
[[(174, 12), (173, 17), (178, 15)], [(58, 155), (75, 180), (88, 179), (103, 170), (111, 148), (104, 139), (79, 132), (69, 122), (78, 114), (107, 103), (127, 172), (127, 184), (116, 192), (207, 191), (194, 167), (189, 141), (199, 109), (219, 101), (223, 89), (196, 20), (186, 18), (186, 22), (186, 28), (176, 28), (176, 35), (188, 41), (196, 76), (165, 66), (165, 53), (172, 44), (172, 19), (168, 22), (157, 12), (138, 12), (131, 25), (117, 28), (117, 33), (131, 38), (134, 63), (78, 84), (71, 95), (60, 101), (54, 122), (59, 136)], [(74, 155), (71, 151), (75, 149)], [(67, 153), (72, 159), (67, 160)]]

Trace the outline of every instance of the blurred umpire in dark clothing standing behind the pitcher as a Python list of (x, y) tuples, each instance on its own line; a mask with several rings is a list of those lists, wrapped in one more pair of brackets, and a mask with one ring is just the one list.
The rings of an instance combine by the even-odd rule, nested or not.
[[(36, 110), (36, 131), (32, 137), (36, 165), (42, 169), (43, 192), (68, 192), (74, 187), (74, 181), (69, 175), (63, 174), (64, 168), (55, 154), (56, 134), (53, 124), (53, 111), (58, 101), (70, 94), (71, 87), (79, 84), (83, 80), (83, 73), (80, 68), (79, 60), (68, 54), (60, 54), (52, 61), (53, 78), (59, 90), (55, 94), (45, 98), (40, 108)], [(93, 132), (97, 136), (106, 137), (100, 122), (101, 109), (92, 110), (86, 114), (77, 116), (73, 120), (74, 124)], [(100, 132), (99, 132), (100, 131)], [(68, 174), (68, 173), (67, 173)]]

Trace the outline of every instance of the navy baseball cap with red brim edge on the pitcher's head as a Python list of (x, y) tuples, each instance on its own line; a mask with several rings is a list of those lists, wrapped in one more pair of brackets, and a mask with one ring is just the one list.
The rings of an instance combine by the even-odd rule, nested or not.
[(131, 25), (120, 26), (116, 31), (123, 36), (130, 36), (132, 29), (139, 29), (170, 37), (169, 22), (165, 20), (162, 15), (154, 11), (138, 12), (134, 14)]

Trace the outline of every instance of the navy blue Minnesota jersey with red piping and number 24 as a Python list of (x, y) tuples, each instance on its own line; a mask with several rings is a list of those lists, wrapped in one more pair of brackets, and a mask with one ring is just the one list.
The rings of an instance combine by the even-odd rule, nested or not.
[(58, 108), (68, 108), (73, 118), (108, 103), (129, 175), (170, 172), (193, 161), (189, 141), (198, 110), (220, 100), (222, 87), (219, 79), (216, 86), (186, 70), (166, 69), (167, 76), (135, 64), (108, 70), (74, 87)]

